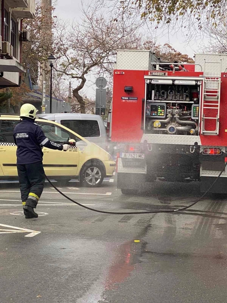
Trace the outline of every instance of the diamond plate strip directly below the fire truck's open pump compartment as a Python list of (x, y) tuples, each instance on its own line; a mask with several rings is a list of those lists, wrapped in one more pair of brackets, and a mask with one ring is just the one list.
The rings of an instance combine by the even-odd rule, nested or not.
[(199, 136), (144, 134), (141, 143), (145, 140), (147, 143), (194, 145), (197, 142), (201, 145)]

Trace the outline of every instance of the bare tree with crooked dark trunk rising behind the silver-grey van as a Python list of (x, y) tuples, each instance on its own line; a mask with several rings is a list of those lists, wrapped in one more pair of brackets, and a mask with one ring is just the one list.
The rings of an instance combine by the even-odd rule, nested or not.
[(91, 71), (108, 71), (109, 64), (114, 62), (116, 49), (133, 48), (140, 34), (135, 19), (105, 16), (100, 6), (82, 7), (82, 14), (81, 22), (72, 24), (64, 42), (59, 45), (61, 63), (56, 71), (77, 79), (72, 92), (80, 104), (81, 113), (85, 113), (85, 101), (80, 93), (87, 80), (85, 76)]

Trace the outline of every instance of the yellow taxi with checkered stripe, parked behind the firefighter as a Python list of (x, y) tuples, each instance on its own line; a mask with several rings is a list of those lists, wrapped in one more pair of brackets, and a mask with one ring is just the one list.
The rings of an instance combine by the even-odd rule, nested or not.
[[(16, 180), (16, 145), (13, 130), (20, 123), (19, 115), (0, 114), (0, 180)], [(98, 187), (111, 177), (115, 162), (104, 149), (91, 143), (56, 122), (36, 119), (46, 137), (54, 142), (76, 141), (68, 151), (42, 148), (45, 174), (56, 181), (78, 179), (81, 186)]]

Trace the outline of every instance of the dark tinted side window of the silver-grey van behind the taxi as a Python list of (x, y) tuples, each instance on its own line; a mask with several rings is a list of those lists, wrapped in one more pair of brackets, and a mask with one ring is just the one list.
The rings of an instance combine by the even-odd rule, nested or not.
[(100, 129), (96, 120), (61, 120), (61, 125), (71, 129), (81, 137), (100, 137)]

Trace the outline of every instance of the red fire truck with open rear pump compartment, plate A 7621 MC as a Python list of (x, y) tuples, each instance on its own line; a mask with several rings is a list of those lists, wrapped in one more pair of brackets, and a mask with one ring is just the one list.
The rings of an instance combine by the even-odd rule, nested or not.
[[(150, 51), (118, 50), (107, 128), (123, 194), (145, 182), (200, 181), (205, 192), (227, 156), (227, 55), (196, 54), (195, 64)], [(227, 170), (212, 188), (227, 193)]]

